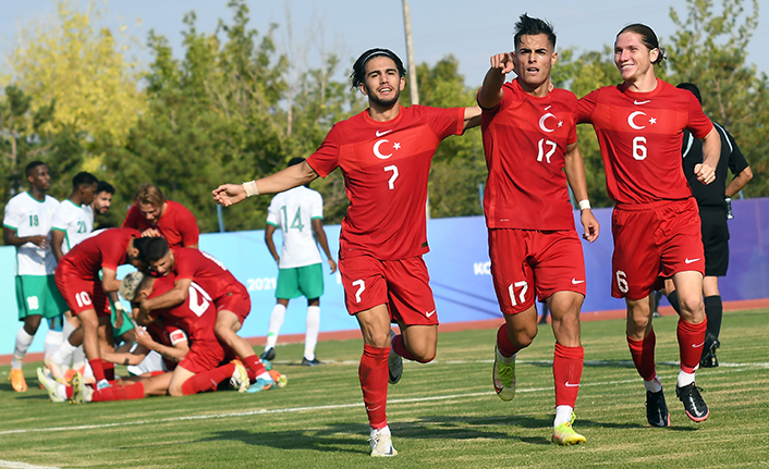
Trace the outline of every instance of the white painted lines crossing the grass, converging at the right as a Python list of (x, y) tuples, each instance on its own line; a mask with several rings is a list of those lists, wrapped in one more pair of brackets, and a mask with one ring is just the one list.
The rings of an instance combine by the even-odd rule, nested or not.
[[(485, 360), (468, 360), (468, 361), (463, 361), (463, 362), (479, 362)], [(491, 361), (491, 360), (489, 360)], [(447, 361), (448, 362), (448, 361)], [(547, 363), (552, 361), (547, 361), (547, 360), (521, 360), (518, 361), (520, 363)], [(602, 363), (617, 363), (617, 361), (602, 361), (602, 360), (594, 360), (594, 361), (586, 361), (586, 363), (594, 363), (594, 365), (602, 365)], [(628, 363), (632, 363), (632, 361), (628, 361)], [(658, 365), (660, 363), (666, 363), (666, 365), (671, 365), (671, 366), (678, 366), (678, 362), (657, 362)], [(719, 363), (722, 367), (727, 368), (732, 368), (732, 370), (713, 370), (710, 371), (709, 374), (724, 374), (724, 373), (730, 373), (733, 371), (740, 371), (739, 368), (769, 368), (769, 363)], [(676, 377), (678, 372), (670, 372), (670, 373), (662, 373), (660, 378), (673, 378)], [(598, 383), (582, 383), (581, 387), (593, 387), (593, 386), (606, 386), (606, 385), (613, 385), (613, 384), (627, 384), (627, 383), (638, 383), (638, 378), (633, 378), (628, 380), (619, 380), (619, 381), (602, 381)], [(539, 393), (539, 392), (550, 392), (552, 391), (552, 386), (547, 386), (547, 387), (529, 387), (529, 388), (517, 388), (515, 392), (516, 393)], [(411, 403), (425, 403), (425, 402), (431, 402), (431, 400), (445, 400), (445, 399), (456, 399), (456, 398), (462, 398), (462, 397), (479, 397), (479, 396), (491, 396), (493, 395), (493, 391), (484, 391), (481, 393), (462, 393), (462, 394), (448, 394), (448, 395), (441, 395), (441, 396), (428, 396), (428, 397), (406, 397), (406, 398), (401, 398), (401, 399), (390, 399), (388, 400), (391, 404), (411, 404)], [(303, 412), (303, 411), (312, 411), (312, 410), (331, 410), (331, 409), (349, 409), (353, 407), (362, 407), (364, 406), (363, 400), (358, 403), (353, 403), (353, 404), (332, 404), (328, 406), (305, 406), (305, 407), (288, 407), (283, 409), (259, 409), (259, 410), (246, 410), (242, 412), (225, 412), (225, 414), (205, 414), (202, 416), (184, 416), (184, 417), (168, 417), (164, 419), (155, 419), (155, 420), (136, 420), (133, 422), (115, 422), (115, 423), (99, 423), (99, 424), (93, 424), (93, 425), (76, 425), (76, 427), (49, 427), (49, 428), (42, 428), (42, 429), (17, 429), (17, 430), (4, 430), (0, 431), (0, 436), (2, 435), (10, 435), (10, 434), (20, 434), (20, 433), (44, 433), (44, 432), (61, 432), (61, 431), (73, 431), (73, 430), (95, 430), (95, 429), (109, 429), (109, 428), (114, 428), (114, 427), (131, 427), (131, 425), (144, 425), (144, 424), (157, 424), (157, 423), (162, 423), (162, 422), (179, 422), (179, 421), (185, 421), (185, 420), (210, 420), (210, 419), (223, 419), (223, 418), (230, 418), (230, 417), (248, 417), (248, 416), (261, 416), (261, 415), (270, 415), (270, 414), (291, 414), (291, 412)], [(2, 460), (0, 460), (0, 468), (2, 467), (12, 467), (15, 468), (16, 466), (2, 466)], [(23, 462), (19, 462), (23, 464)], [(41, 467), (38, 466), (20, 466), (21, 468), (30, 468), (30, 469), (38, 469)]]

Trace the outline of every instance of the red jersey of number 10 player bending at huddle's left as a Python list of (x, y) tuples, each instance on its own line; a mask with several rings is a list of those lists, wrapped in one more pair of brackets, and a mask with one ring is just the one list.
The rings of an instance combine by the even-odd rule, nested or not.
[(125, 254), (129, 243), (141, 236), (133, 229), (105, 230), (73, 247), (61, 258), (59, 266), (81, 279), (98, 281), (101, 268), (118, 270), (118, 266), (129, 263)]

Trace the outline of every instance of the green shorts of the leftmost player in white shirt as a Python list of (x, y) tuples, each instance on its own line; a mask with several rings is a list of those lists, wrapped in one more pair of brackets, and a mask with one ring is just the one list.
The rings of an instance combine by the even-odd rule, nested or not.
[(16, 275), (16, 307), (20, 321), (28, 316), (53, 319), (68, 309), (53, 275)]

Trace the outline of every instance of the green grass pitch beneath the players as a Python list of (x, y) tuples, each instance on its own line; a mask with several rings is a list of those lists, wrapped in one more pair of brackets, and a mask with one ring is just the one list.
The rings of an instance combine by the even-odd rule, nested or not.
[[(493, 395), (495, 331), (439, 336), (429, 365), (404, 363), (388, 418), (399, 455), (368, 456), (357, 379), (359, 341), (318, 346), (322, 367), (294, 363), (302, 345), (278, 347), (282, 390), (219, 392), (125, 403), (52, 404), (36, 386), (14, 393), (0, 368), (0, 467), (7, 461), (95, 468), (735, 468), (769, 467), (768, 310), (727, 312), (721, 367), (697, 384), (710, 418), (692, 422), (675, 398), (676, 318), (655, 320), (658, 373), (672, 427), (646, 423), (645, 393), (630, 361), (624, 321), (583, 324), (585, 371), (575, 429), (587, 444), (549, 442), (553, 418), (550, 326), (518, 355), (518, 392)], [(281, 360), (286, 360), (282, 362)]]

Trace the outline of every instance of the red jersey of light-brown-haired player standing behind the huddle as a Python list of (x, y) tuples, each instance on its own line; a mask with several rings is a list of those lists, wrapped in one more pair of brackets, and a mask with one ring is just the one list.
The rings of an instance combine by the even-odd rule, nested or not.
[(197, 244), (200, 230), (197, 227), (195, 215), (186, 207), (173, 200), (166, 200), (166, 213), (160, 217), (157, 224), (148, 222), (139, 211), (138, 203), (134, 203), (123, 220), (123, 227), (136, 229), (142, 233), (149, 229), (157, 229), (171, 247)]

